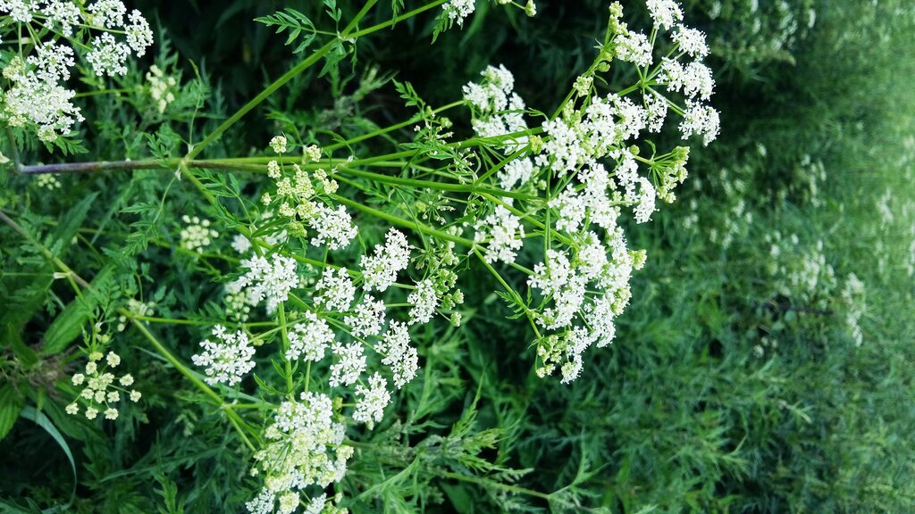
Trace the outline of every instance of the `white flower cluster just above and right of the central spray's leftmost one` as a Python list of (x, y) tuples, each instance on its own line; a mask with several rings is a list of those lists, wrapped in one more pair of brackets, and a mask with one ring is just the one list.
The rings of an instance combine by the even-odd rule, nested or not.
[(270, 260), (264, 256), (254, 256), (241, 262), (247, 271), (238, 280), (231, 283), (231, 292), (245, 290), (249, 302), (259, 304), (266, 299), (267, 313), (276, 311), (277, 305), (285, 302), (289, 292), (298, 285), (296, 260), (278, 253), (271, 255)]

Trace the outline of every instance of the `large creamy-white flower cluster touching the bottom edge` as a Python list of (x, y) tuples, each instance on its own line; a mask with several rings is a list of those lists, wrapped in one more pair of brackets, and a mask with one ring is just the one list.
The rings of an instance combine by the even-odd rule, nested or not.
[[(333, 402), (319, 392), (303, 392), (301, 402), (283, 402), (267, 427), (266, 445), (254, 454), (252, 475), (264, 476), (260, 495), (246, 506), (252, 514), (291, 514), (307, 487), (328, 487), (339, 482), (347, 470), (352, 446), (343, 444), (345, 426), (334, 422)], [(309, 506), (324, 507), (325, 498)]]

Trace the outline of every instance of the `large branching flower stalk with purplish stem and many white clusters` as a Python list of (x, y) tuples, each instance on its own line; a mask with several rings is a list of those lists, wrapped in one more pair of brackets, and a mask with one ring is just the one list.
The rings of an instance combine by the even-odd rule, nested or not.
[[(529, 16), (536, 10), (533, 2), (496, 3)], [(0, 9), (9, 11), (7, 4)], [(287, 44), (305, 34), (296, 52), (326, 40), (188, 145), (183, 157), (17, 166), (26, 175), (162, 169), (177, 172), (207, 202), (209, 213), (188, 213), (180, 227), (183, 248), (202, 258), (219, 239), (231, 241), (233, 253), (221, 262), (231, 265), (228, 272), (208, 268), (224, 287), (227, 319), (199, 332), (191, 359), (200, 372), (172, 355), (145, 322), (199, 324), (119, 313), (226, 412), (253, 451), (251, 475), (261, 486), (247, 504), (252, 513), (343, 510), (346, 498), (328, 493), (345, 488), (355, 448), (348, 428), (382, 423), (395, 390), (414, 380), (417, 329), (438, 318), (461, 325), (468, 311), (459, 278), (470, 266), (485, 268), (510, 316), (523, 316), (531, 327), (536, 373), (576, 380), (587, 349), (613, 341), (614, 318), (630, 301), (630, 277), (646, 260), (629, 247), (627, 218), (649, 221), (657, 200), (672, 202), (686, 178), (689, 148), (661, 151), (649, 137), (662, 131), (669, 112), (681, 118), (684, 140), (698, 135), (707, 145), (718, 132), (708, 103), (714, 80), (702, 63), (705, 36), (683, 25), (673, 0), (649, 0), (649, 35), (621, 21), (619, 3), (609, 6), (596, 59), (552, 115), (525, 104), (510, 70), (490, 66), (464, 86), (460, 101), (437, 109), (409, 83), (394, 81), (414, 116), (346, 141), (322, 145), (276, 134), (263, 155), (199, 158), (303, 71), (322, 60), (336, 65), (360, 37), (441, 7), (437, 35), (462, 26), (475, 5), (436, 0), (360, 29), (374, 4), (362, 5), (342, 29), (341, 13), (331, 7), (335, 30), (318, 30), (288, 9), (262, 18), (292, 34)], [(608, 83), (616, 67), (638, 79), (625, 87)], [(468, 113), (472, 137), (454, 134), (444, 115), (458, 107)], [(389, 153), (364, 155), (361, 144), (411, 127), (412, 137)], [(38, 130), (41, 136), (50, 129)], [(219, 170), (243, 175), (257, 196), (227, 185)], [(223, 398), (247, 394), (251, 375), (263, 404), (236, 412)], [(257, 423), (263, 430), (253, 428)]]

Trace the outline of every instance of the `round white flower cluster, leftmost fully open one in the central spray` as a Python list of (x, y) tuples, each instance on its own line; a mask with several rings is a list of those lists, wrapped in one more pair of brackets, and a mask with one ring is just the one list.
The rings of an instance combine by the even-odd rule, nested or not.
[(242, 381), (244, 375), (254, 369), (254, 347), (248, 335), (239, 330), (232, 334), (225, 327), (213, 328), (213, 336), (218, 339), (200, 341), (203, 353), (191, 356), (195, 366), (206, 368), (206, 381), (210, 385), (227, 384), (233, 386)]

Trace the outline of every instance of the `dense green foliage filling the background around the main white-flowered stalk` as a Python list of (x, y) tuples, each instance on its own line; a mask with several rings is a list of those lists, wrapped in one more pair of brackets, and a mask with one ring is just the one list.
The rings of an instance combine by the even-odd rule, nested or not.
[[(252, 445), (227, 412), (266, 426), (266, 389), (247, 378), (221, 394), (253, 409), (218, 407), (169, 358), (190, 366), (210, 320), (230, 319), (223, 284), (238, 276), (231, 235), (188, 250), (182, 216), (234, 227), (237, 206), (267, 190), (266, 172), (172, 172), (188, 141), (307, 52), (293, 54), (286, 34), (253, 21), (286, 5), (178, 4), (136, 3), (156, 46), (124, 77), (83, 70), (95, 81), (85, 91), (121, 92), (78, 99), (87, 121), (71, 147), (50, 152), (27, 134), (12, 135), (15, 144), (3, 135), (0, 511), (242, 512), (261, 487), (249, 474)], [(314, 4), (288, 6), (326, 21)], [(362, 3), (338, 4), (342, 30)], [(400, 12), (415, 6), (406, 4)], [(392, 389), (381, 423), (350, 427), (355, 454), (328, 497), (342, 492), (351, 512), (915, 511), (915, 8), (756, 4), (683, 2), (684, 19), (708, 36), (721, 134), (707, 146), (693, 140), (673, 204), (659, 202), (649, 223), (620, 220), (648, 260), (612, 345), (588, 349), (569, 384), (538, 377), (533, 322), (512, 316), (489, 263), (462, 260), (467, 301), (414, 328), (418, 375)], [(513, 71), (529, 106), (552, 112), (595, 59), (607, 5), (542, 0), (527, 17), (481, 0), (431, 45), (437, 11), (419, 14), (361, 38), (354, 64), (296, 76), (204, 155), (268, 155), (264, 143), (281, 133), (302, 145), (351, 140), (422, 111), (404, 106), (411, 95), (392, 77), (437, 108), (490, 64)], [(397, 6), (382, 2), (361, 27), (390, 20)], [(630, 27), (651, 30), (644, 2), (624, 7)], [(152, 64), (179, 84), (161, 112)], [(621, 89), (633, 74), (616, 66), (607, 77)], [(473, 135), (468, 110), (447, 114), (456, 134)], [(352, 146), (394, 152), (413, 121)], [(652, 139), (659, 154), (678, 140), (675, 126)], [(16, 172), (14, 152), (31, 165), (152, 158), (171, 167), (28, 175)], [(359, 191), (375, 207), (438, 205), (431, 193), (407, 201), (394, 189)], [(207, 191), (218, 200), (208, 203)], [(364, 241), (337, 262), (358, 262), (388, 226), (360, 221)], [(411, 241), (420, 245), (418, 234)], [(504, 277), (528, 289), (522, 274)], [(185, 323), (131, 326), (129, 298), (154, 302), (150, 317)], [(452, 313), (459, 324), (448, 323)], [(116, 421), (66, 413), (84, 350), (109, 348), (109, 337), (123, 359), (118, 376), (133, 374), (141, 402), (124, 399)], [(281, 340), (258, 341), (259, 377), (273, 376), (264, 350)]]

